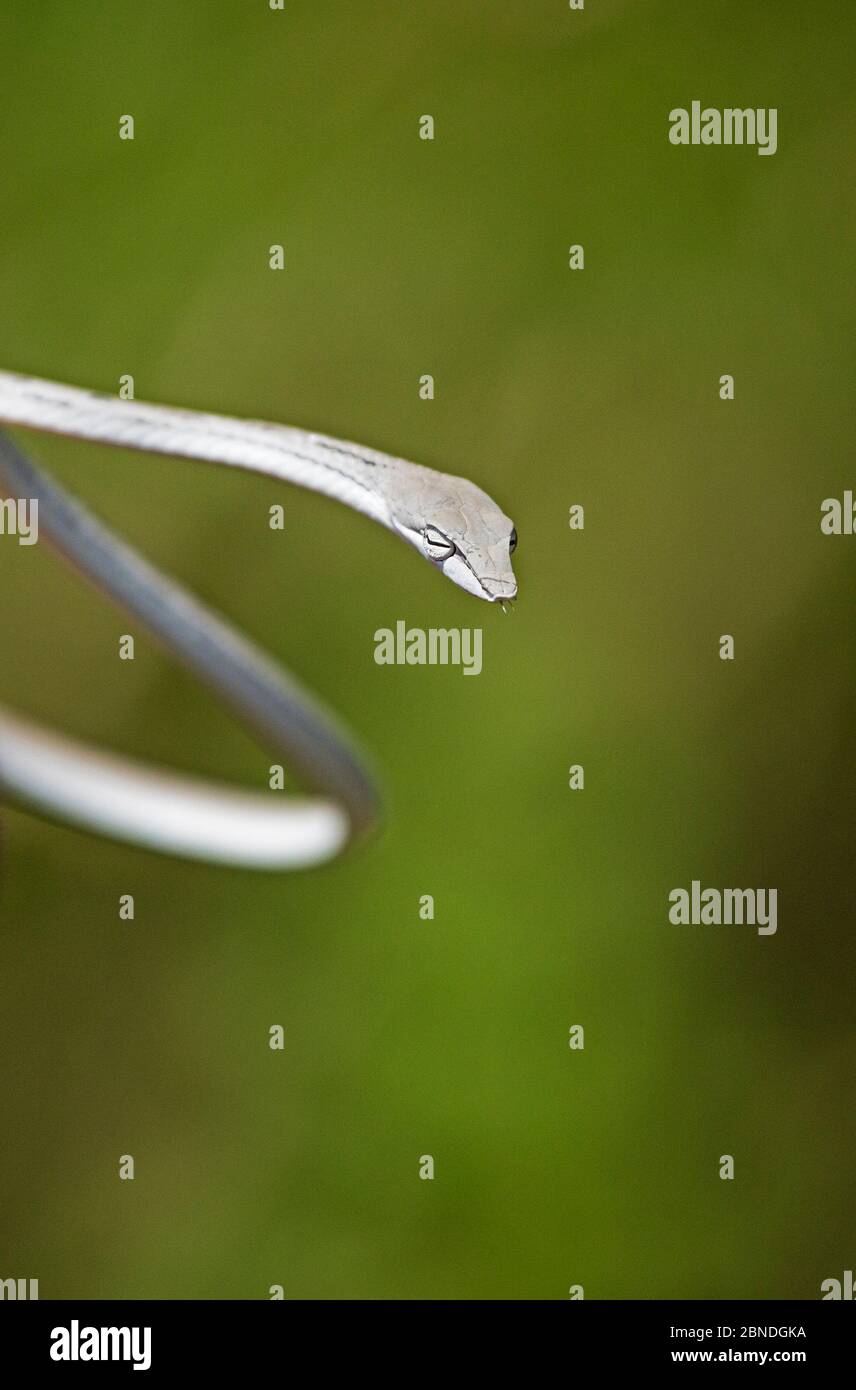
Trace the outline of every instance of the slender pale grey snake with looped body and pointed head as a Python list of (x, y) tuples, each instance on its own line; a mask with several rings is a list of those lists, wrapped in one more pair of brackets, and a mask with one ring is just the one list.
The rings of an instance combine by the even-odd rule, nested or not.
[[(146, 404), (13, 371), (0, 371), (0, 424), (308, 488), (393, 531), (467, 594), (503, 609), (517, 598), (514, 524), (467, 478), (290, 425)], [(0, 801), (143, 849), (249, 869), (313, 867), (377, 827), (374, 777), (338, 717), (6, 432), (0, 492), (31, 507), (38, 502), (39, 534), (283, 758), (304, 788), (282, 796), (270, 785), (253, 790), (151, 766), (1, 705)]]

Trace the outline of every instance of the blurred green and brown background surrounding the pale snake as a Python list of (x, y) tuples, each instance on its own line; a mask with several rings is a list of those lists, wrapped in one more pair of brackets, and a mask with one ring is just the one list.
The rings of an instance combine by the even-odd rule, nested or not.
[[(293, 876), (3, 817), (0, 1276), (817, 1298), (856, 1248), (852, 7), (19, 0), (0, 36), (3, 367), (359, 439), (520, 532), (506, 619), (324, 498), (29, 436), (388, 810)], [(777, 107), (778, 153), (674, 149), (693, 99)], [(47, 546), (0, 543), (0, 699), (264, 784)], [(481, 624), (484, 673), (375, 666), (397, 619)], [(778, 888), (778, 934), (671, 927), (692, 878)]]

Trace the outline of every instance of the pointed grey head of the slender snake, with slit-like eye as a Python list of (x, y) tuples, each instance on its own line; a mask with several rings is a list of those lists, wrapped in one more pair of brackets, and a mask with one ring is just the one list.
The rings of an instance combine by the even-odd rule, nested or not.
[(468, 594), (488, 603), (516, 599), (514, 523), (467, 478), (431, 468), (420, 468), (420, 485), (390, 506), (399, 535)]

